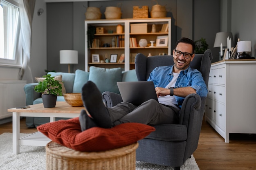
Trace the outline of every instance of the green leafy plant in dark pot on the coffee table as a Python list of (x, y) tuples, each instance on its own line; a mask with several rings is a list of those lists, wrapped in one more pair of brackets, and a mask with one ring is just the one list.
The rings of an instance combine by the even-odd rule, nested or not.
[(57, 95), (62, 95), (61, 81), (55, 80), (50, 74), (43, 76), (45, 79), (42, 82), (38, 82), (34, 90), (38, 93), (42, 93), (43, 105), (45, 108), (55, 107), (57, 101)]

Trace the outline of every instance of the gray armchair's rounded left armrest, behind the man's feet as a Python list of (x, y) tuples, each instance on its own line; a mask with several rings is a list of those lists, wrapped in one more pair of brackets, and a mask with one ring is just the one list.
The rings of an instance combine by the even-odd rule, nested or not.
[(123, 102), (121, 95), (109, 91), (102, 93), (102, 99), (106, 107), (111, 108)]

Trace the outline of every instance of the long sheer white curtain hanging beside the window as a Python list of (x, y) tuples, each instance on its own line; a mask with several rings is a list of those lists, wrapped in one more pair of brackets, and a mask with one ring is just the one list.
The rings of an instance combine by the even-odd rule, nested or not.
[(27, 68), (32, 76), (29, 67), (31, 36), (32, 36), (32, 19), (34, 14), (36, 0), (19, 0), (20, 7), (20, 37), (18, 44), (19, 57), (23, 58), (22, 67), (20, 68), (18, 79), (22, 79), (24, 71)]

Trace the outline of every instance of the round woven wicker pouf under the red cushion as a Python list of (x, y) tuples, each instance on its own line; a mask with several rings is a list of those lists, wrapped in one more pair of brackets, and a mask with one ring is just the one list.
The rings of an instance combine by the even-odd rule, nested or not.
[(135, 170), (138, 142), (104, 152), (79, 152), (56, 142), (46, 149), (46, 170)]

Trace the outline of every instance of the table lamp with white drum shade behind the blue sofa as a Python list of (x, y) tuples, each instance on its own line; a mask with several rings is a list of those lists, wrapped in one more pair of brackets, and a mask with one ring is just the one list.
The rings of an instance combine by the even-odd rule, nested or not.
[(70, 73), (70, 64), (78, 64), (78, 51), (61, 50), (60, 64), (68, 64), (68, 73)]

